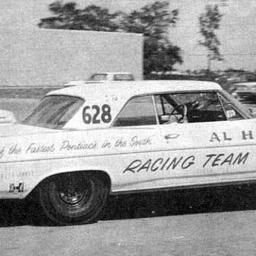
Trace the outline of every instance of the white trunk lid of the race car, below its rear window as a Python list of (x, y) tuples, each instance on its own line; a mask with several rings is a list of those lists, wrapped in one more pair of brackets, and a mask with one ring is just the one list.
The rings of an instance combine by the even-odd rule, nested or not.
[(18, 137), (22, 135), (32, 135), (37, 133), (57, 133), (62, 130), (48, 129), (19, 123), (0, 125), (0, 137)]

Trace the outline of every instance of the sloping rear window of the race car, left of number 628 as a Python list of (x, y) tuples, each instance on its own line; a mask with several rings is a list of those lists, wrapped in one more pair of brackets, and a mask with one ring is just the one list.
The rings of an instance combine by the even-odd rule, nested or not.
[(47, 96), (22, 121), (51, 129), (61, 129), (83, 105), (83, 99), (70, 96)]

